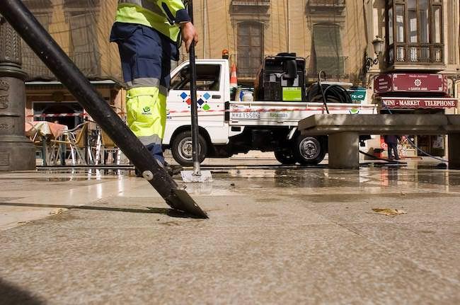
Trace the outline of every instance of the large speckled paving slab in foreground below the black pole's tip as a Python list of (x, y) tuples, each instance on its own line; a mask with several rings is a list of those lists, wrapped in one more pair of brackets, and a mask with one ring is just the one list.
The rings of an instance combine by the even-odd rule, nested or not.
[(0, 275), (50, 304), (460, 301), (451, 280), (327, 219), (243, 226), (222, 200), (200, 200), (214, 220), (72, 210), (9, 230)]

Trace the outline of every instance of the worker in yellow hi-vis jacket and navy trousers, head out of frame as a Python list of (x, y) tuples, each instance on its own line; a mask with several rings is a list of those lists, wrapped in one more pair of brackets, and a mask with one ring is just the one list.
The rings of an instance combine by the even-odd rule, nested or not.
[(189, 51), (198, 36), (181, 0), (119, 0), (110, 42), (120, 51), (127, 84), (126, 108), (130, 130), (161, 166), (166, 127), (171, 62), (179, 59), (181, 40)]

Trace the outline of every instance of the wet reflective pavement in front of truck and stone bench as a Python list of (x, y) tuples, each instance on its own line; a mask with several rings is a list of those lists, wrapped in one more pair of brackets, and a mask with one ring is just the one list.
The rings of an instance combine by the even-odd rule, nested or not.
[(219, 185), (225, 190), (255, 188), (362, 188), (413, 187), (437, 188), (449, 191), (460, 185), (460, 172), (437, 168), (407, 167), (361, 168), (360, 171), (330, 170), (328, 168), (234, 169), (228, 173), (213, 173), (214, 177), (231, 178)]

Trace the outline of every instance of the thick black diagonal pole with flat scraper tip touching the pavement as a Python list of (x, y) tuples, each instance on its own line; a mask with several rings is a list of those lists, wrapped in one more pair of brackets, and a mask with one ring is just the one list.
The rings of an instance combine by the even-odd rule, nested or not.
[(93, 119), (122, 149), (142, 175), (166, 200), (166, 203), (195, 217), (207, 218), (185, 190), (178, 188), (176, 182), (163, 166), (152, 158), (149, 151), (118, 117), (110, 105), (89, 83), (57, 42), (38, 23), (37, 19), (20, 0), (1, 1), (0, 13), (21, 35), (35, 54), (42, 59), (64, 86), (72, 93)]

